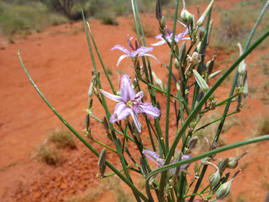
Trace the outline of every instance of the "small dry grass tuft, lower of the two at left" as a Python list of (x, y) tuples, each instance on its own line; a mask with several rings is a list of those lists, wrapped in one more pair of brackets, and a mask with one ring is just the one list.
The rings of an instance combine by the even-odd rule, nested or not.
[(46, 144), (40, 144), (36, 147), (35, 157), (50, 166), (55, 166), (60, 161), (59, 151), (55, 147), (48, 147)]

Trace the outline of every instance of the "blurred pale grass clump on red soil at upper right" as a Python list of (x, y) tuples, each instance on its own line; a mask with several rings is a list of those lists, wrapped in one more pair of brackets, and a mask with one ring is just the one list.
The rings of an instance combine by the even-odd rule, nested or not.
[[(214, 27), (212, 34), (214, 41), (211, 46), (213, 48), (221, 48), (227, 53), (237, 50), (236, 44), (240, 42), (244, 46), (247, 36), (249, 35), (255, 20), (258, 18), (263, 2), (242, 1), (229, 10), (223, 10), (219, 14), (219, 27)], [(242, 12), (244, 11), (244, 12)], [(256, 30), (253, 41), (261, 36), (269, 26), (268, 13), (263, 16), (261, 25)], [(265, 48), (268, 43), (261, 44), (260, 48)]]

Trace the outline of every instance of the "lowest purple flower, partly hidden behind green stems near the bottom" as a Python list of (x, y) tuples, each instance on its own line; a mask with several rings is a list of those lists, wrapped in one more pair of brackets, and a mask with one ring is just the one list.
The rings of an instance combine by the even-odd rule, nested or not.
[[(149, 158), (152, 161), (154, 161), (159, 167), (164, 166), (165, 159), (161, 159), (159, 154), (157, 154), (157, 152), (152, 152), (151, 150), (143, 150), (142, 153), (146, 156), (146, 158)], [(182, 157), (181, 157), (181, 161), (186, 160), (186, 159), (190, 159), (191, 157), (193, 157), (193, 156), (183, 154)], [(174, 163), (174, 161), (171, 161), (170, 163)], [(180, 168), (181, 169), (186, 169), (190, 165), (191, 165), (191, 163), (187, 163), (187, 164), (184, 164), (183, 166), (180, 166)]]

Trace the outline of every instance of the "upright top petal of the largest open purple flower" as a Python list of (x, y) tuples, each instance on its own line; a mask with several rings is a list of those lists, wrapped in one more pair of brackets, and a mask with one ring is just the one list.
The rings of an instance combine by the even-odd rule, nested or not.
[(135, 90), (132, 89), (130, 82), (131, 79), (127, 74), (124, 74), (123, 77), (121, 77), (120, 90), (125, 103), (135, 98)]

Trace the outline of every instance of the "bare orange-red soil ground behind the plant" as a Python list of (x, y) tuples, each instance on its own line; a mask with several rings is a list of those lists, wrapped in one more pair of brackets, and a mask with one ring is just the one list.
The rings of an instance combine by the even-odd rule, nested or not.
[[(221, 1), (223, 8), (231, 4)], [(201, 6), (203, 11), (205, 6)], [(193, 8), (192, 13), (195, 13)], [(217, 18), (217, 14), (213, 16)], [(146, 26), (153, 26), (158, 30), (158, 22), (153, 15), (143, 15)], [(118, 72), (132, 75), (130, 60), (123, 60), (119, 67), (116, 62), (120, 56), (117, 50), (110, 49), (121, 44), (125, 46), (127, 34), (135, 36), (132, 30), (132, 16), (118, 18), (119, 26), (102, 25), (99, 21), (90, 21), (92, 32), (102, 54), (104, 63), (113, 72), (111, 79), (113, 84), (118, 84)], [(172, 26), (172, 22), (167, 22)], [(158, 34), (158, 31), (155, 34)], [(156, 42), (154, 38), (147, 38), (147, 44)], [(68, 149), (62, 152), (60, 166), (46, 166), (32, 159), (32, 153), (36, 145), (46, 139), (50, 130), (62, 126), (53, 112), (41, 100), (32, 84), (27, 79), (18, 59), (17, 51), (22, 48), (22, 58), (25, 66), (32, 75), (34, 81), (43, 94), (48, 98), (53, 107), (72, 125), (77, 131), (83, 130), (85, 112), (88, 106), (87, 91), (90, 84), (92, 63), (88, 51), (88, 45), (83, 32), (82, 22), (61, 25), (38, 34), (31, 34), (25, 39), (15, 40), (15, 43), (6, 43), (1, 40), (0, 50), (0, 198), (1, 201), (64, 201), (70, 195), (81, 194), (87, 187), (95, 189), (98, 181), (97, 157), (91, 154), (81, 142), (76, 142), (76, 150)], [(160, 62), (168, 63), (167, 46), (154, 48), (153, 54)], [(247, 64), (255, 62), (260, 55), (268, 50), (254, 51), (247, 58)], [(212, 58), (213, 50), (209, 50), (206, 60)], [(219, 51), (216, 63), (218, 69), (227, 69), (230, 64), (221, 62), (229, 55)], [(156, 61), (151, 60), (153, 70), (158, 77), (167, 83), (167, 69), (160, 67)], [(103, 81), (103, 88), (108, 90), (101, 66), (98, 64)], [(261, 86), (266, 78), (261, 75), (261, 69), (251, 67), (248, 69), (249, 86)], [(232, 81), (230, 81), (232, 82)], [(174, 88), (174, 86), (173, 86)], [(216, 98), (223, 100), (228, 96), (230, 84), (222, 85), (216, 92)], [(175, 90), (173, 90), (174, 92)], [(258, 126), (260, 116), (268, 116), (268, 105), (263, 103), (261, 95), (268, 93), (259, 91), (247, 98), (247, 107), (242, 109), (236, 118), (240, 119), (240, 126), (233, 126), (226, 132), (224, 138), (226, 144), (244, 140), (252, 136), (252, 131)], [(162, 97), (162, 95), (158, 95)], [(164, 99), (164, 98), (161, 98)], [(113, 110), (114, 102), (109, 102), (109, 109)], [(94, 100), (95, 114), (102, 117), (104, 111)], [(162, 104), (165, 109), (165, 101)], [(234, 106), (231, 108), (234, 109)], [(171, 110), (171, 117), (174, 114)], [(222, 112), (222, 111), (221, 111)], [(91, 121), (92, 135), (106, 144), (112, 145), (109, 140), (104, 140), (104, 129), (97, 121)], [(162, 124), (164, 124), (162, 122)], [(173, 127), (174, 122), (171, 121)], [(99, 133), (96, 133), (99, 131)], [(82, 133), (81, 133), (82, 134)], [(174, 133), (173, 133), (174, 134)], [(146, 134), (142, 134), (144, 137)], [(92, 143), (92, 142), (91, 142)], [(92, 143), (100, 152), (102, 147)], [(247, 201), (263, 201), (268, 191), (268, 154), (269, 142), (252, 144), (240, 149), (219, 154), (219, 158), (236, 156), (249, 150), (249, 154), (240, 161), (242, 173), (233, 183), (230, 201), (236, 201), (237, 196), (244, 196)], [(108, 159), (112, 159), (112, 154)], [(235, 173), (235, 170), (231, 170)], [(266, 187), (267, 186), (267, 187)], [(103, 198), (103, 201), (111, 199)]]

